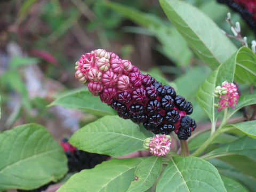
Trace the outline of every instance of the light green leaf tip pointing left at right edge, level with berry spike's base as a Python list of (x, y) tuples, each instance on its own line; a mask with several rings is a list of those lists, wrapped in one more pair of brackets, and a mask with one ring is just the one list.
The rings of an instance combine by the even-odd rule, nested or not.
[(237, 124), (231, 124), (231, 125), (228, 125), (227, 127), (236, 127), (236, 129), (241, 130), (242, 132), (247, 134), (249, 137), (256, 139), (256, 120), (241, 122)]

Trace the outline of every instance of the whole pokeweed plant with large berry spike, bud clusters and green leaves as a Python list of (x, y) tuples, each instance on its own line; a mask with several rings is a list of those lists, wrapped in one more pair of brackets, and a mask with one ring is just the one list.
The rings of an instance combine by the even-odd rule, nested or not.
[[(79, 150), (113, 158), (93, 169), (74, 174), (57, 191), (255, 189), (254, 43), (251, 50), (247, 47), (246, 38), (237, 38), (243, 45), (237, 49), (227, 34), (223, 34), (219, 27), (196, 7), (178, 0), (160, 0), (160, 3), (190, 48), (212, 69), (212, 73), (197, 89), (197, 101), (187, 101), (179, 95), (182, 87), (177, 87), (177, 91), (170, 82), (164, 80), (164, 83), (161, 80), (161, 83), (151, 75), (142, 74), (130, 61), (119, 58), (113, 52), (98, 49), (85, 53), (76, 62), (75, 77), (86, 85), (87, 89), (61, 95), (51, 106), (62, 105), (82, 109), (100, 116), (96, 121), (75, 132), (69, 143)], [(231, 23), (230, 14), (227, 21)], [(239, 24), (231, 27), (235, 37), (241, 35)], [(194, 82), (188, 83), (193, 86)], [(244, 94), (238, 89), (238, 86), (243, 85), (251, 87), (250, 94)], [(199, 105), (210, 119), (209, 129), (202, 125), (200, 130), (193, 132), (197, 126), (194, 119), (189, 116), (193, 116), (193, 110), (196, 113), (193, 105)], [(244, 111), (247, 110), (247, 113), (241, 117), (238, 111), (242, 108)], [(235, 115), (238, 117), (234, 117)], [(220, 121), (217, 121), (218, 119)], [(40, 165), (31, 165), (33, 158), (39, 162), (50, 161), (41, 158), (44, 157), (43, 154), (49, 154), (47, 158), (55, 157), (62, 163), (67, 161), (62, 157), (63, 153), (55, 153), (59, 151), (59, 145), (49, 139), (46, 133), (44, 138), (48, 138), (47, 142), (51, 141), (51, 145), (38, 144), (32, 158), (15, 156), (16, 159), (13, 159), (11, 154), (7, 154), (6, 151), (26, 151), (28, 145), (25, 140), (29, 139), (32, 140), (29, 147), (33, 149), (38, 139), (29, 137), (30, 134), (36, 134), (32, 128), (25, 130), (28, 126), (35, 126), (34, 130), (43, 131), (43, 127), (32, 124), (0, 134), (1, 154), (5, 154), (4, 159), (12, 159), (11, 163), (1, 161), (4, 163), (0, 164), (0, 190), (15, 187), (33, 189), (40, 186), (40, 183), (43, 185), (49, 182), (51, 179), (45, 177), (43, 181), (29, 183), (29, 179), (36, 177), (32, 172), (30, 177), (23, 179), (27, 181), (25, 184), (17, 184), (22, 182), (15, 179), (15, 175), (12, 174), (17, 169), (15, 166), (23, 165), (33, 171)], [(30, 130), (31, 133), (25, 134), (25, 131)], [(6, 149), (6, 146), (13, 142), (6, 139), (7, 137), (18, 137), (24, 145)], [(47, 148), (42, 152), (38, 146)], [(145, 149), (149, 150), (148, 157), (115, 158)], [(57, 175), (55, 180), (67, 172), (66, 168), (60, 170), (58, 167), (65, 166), (57, 162), (52, 165), (57, 170), (54, 174)], [(26, 173), (25, 168), (22, 170), (23, 174)], [(45, 175), (47, 173), (46, 170)], [(20, 175), (16, 176), (18, 178)], [(2, 182), (2, 178), (5, 177), (9, 179)], [(10, 182), (10, 177), (13, 182)]]

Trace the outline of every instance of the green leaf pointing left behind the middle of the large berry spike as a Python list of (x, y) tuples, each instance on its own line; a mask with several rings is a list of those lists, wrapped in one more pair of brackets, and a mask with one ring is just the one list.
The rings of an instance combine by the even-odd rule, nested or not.
[(89, 90), (75, 90), (61, 95), (49, 107), (60, 105), (68, 109), (81, 109), (98, 116), (114, 115), (115, 110), (102, 103), (99, 97), (93, 97)]

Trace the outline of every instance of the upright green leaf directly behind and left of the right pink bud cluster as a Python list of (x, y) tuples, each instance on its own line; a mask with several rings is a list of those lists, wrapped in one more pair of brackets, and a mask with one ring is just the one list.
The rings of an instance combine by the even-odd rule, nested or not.
[(237, 52), (227, 61), (222, 63), (218, 69), (212, 71), (211, 75), (205, 79), (197, 91), (197, 102), (205, 113), (209, 116), (212, 123), (215, 123), (216, 109), (214, 107), (214, 88), (222, 82), (233, 82), (235, 73), (235, 59)]

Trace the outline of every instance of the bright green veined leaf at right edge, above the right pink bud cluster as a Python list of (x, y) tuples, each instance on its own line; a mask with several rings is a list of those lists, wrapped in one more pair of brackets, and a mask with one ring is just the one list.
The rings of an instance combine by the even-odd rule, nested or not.
[(256, 85), (256, 55), (248, 47), (242, 47), (237, 54), (235, 81)]

